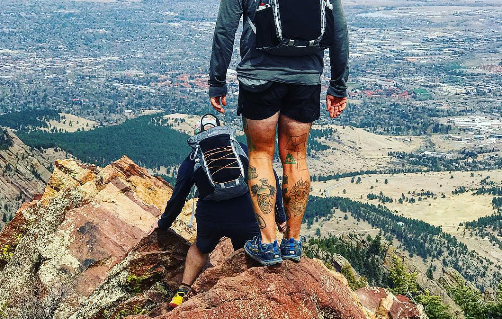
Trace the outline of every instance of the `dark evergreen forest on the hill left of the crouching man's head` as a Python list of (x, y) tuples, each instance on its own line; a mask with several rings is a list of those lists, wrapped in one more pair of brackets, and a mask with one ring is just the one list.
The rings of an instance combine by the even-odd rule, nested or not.
[(125, 154), (140, 166), (171, 167), (179, 165), (190, 152), (186, 134), (157, 125), (153, 116), (142, 116), (90, 131), (18, 134), (29, 146), (59, 147), (86, 163), (99, 166), (108, 165)]

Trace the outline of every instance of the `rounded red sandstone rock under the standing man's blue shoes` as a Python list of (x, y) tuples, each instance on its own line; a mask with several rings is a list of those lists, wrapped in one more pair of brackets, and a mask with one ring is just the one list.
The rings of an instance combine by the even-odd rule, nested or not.
[(243, 251), (237, 251), (221, 265), (222, 278), (212, 288), (156, 319), (367, 318), (350, 288), (320, 262), (302, 258), (234, 276), (239, 267), (252, 265), (243, 259)]

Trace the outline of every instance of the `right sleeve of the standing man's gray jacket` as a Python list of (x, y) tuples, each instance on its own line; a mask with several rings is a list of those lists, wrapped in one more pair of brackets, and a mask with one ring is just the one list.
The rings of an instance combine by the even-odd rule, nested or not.
[(348, 79), (348, 32), (347, 22), (340, 0), (332, 0), (333, 15), (335, 16), (334, 37), (335, 42), (329, 48), (329, 60), (331, 63), (331, 80), (329, 81), (328, 94), (345, 97), (347, 96)]

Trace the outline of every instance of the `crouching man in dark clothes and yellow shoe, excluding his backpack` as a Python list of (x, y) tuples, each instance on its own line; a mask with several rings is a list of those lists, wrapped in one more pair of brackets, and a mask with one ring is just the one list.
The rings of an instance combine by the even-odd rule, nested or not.
[[(204, 119), (203, 121), (206, 121), (202, 122), (206, 130), (216, 126), (216, 122), (212, 119)], [(200, 131), (200, 125), (196, 125), (195, 135), (199, 134)], [(241, 147), (244, 151), (246, 150), (245, 145), (241, 145)], [(185, 158), (178, 169), (173, 194), (167, 202), (164, 214), (152, 225), (148, 235), (157, 228), (167, 230), (180, 215), (192, 186), (195, 184), (198, 189), (204, 189), (203, 185), (208, 183), (206, 175), (194, 174), (195, 161), (191, 155), (192, 153)], [(246, 173), (247, 159), (241, 157), (241, 161), (245, 168), (244, 173)], [(245, 176), (245, 178), (247, 177)], [(277, 175), (273, 184), (279, 185)], [(284, 231), (286, 229), (286, 216), (281, 196), (277, 196), (274, 206), (278, 227)], [(242, 248), (247, 240), (260, 234), (249, 193), (228, 200), (198, 200), (195, 218), (197, 220), (196, 243), (188, 250), (183, 281), (171, 300), (170, 306), (172, 307), (182, 304), (183, 298), (191, 290), (191, 285), (206, 264), (209, 253), (214, 250), (223, 236), (229, 237), (233, 249), (237, 250)]]

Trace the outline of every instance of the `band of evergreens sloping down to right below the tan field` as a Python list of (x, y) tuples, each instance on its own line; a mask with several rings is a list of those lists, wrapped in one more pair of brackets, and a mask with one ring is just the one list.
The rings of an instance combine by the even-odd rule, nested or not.
[[(443, 265), (456, 269), (473, 282), (476, 282), (479, 276), (485, 276), (488, 266), (493, 265), (492, 261), (479, 257), (456, 237), (443, 232), (440, 227), (395, 215), (382, 204), (374, 205), (343, 197), (311, 196), (304, 223), (312, 226), (315, 221), (322, 223), (330, 220), (335, 209), (343, 214), (350, 213), (357, 221), (364, 221), (374, 228), (381, 229), (383, 238), (389, 241), (398, 240), (410, 256), (417, 255), (424, 260), (427, 258), (441, 260)], [(466, 256), (469, 262), (465, 262)], [(493, 277), (490, 278), (492, 287), (500, 282), (499, 270), (494, 271)], [(479, 288), (484, 289), (482, 286)]]

